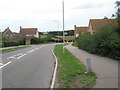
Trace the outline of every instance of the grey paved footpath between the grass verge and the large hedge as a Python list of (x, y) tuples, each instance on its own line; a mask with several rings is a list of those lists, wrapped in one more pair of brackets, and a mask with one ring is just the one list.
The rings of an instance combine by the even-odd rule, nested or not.
[(93, 72), (97, 75), (93, 88), (118, 88), (118, 61), (100, 57), (67, 45), (66, 48), (86, 65), (86, 58), (91, 58)]

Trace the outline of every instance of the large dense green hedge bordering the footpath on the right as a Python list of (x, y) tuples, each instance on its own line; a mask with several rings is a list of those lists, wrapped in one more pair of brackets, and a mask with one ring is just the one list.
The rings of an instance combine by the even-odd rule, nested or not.
[(93, 54), (120, 60), (120, 34), (118, 26), (102, 27), (93, 35), (79, 35), (78, 47)]

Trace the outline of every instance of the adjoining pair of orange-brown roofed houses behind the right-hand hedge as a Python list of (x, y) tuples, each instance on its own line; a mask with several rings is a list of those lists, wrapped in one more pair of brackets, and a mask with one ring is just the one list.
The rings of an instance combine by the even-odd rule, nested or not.
[(116, 19), (90, 19), (89, 26), (88, 27), (77, 27), (74, 26), (74, 35), (75, 37), (78, 37), (79, 33), (84, 34), (86, 32), (90, 32), (90, 34), (93, 34), (96, 32), (99, 28), (107, 25), (116, 24)]

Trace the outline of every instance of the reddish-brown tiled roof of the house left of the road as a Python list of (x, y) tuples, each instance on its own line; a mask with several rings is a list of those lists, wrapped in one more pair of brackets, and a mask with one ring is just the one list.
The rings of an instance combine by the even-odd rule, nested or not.
[(34, 35), (37, 33), (37, 28), (21, 28), (20, 34), (21, 35)]

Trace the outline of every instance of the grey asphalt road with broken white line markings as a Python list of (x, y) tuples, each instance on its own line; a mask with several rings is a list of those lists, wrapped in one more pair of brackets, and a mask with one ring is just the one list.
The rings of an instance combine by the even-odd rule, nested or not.
[(2, 88), (49, 88), (55, 44), (37, 45), (2, 54)]

